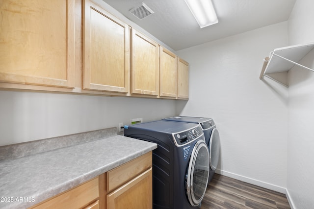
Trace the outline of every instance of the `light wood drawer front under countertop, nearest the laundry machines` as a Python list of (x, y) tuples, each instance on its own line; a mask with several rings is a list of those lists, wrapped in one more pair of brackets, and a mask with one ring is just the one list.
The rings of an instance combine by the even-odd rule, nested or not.
[(115, 169), (107, 172), (107, 191), (110, 192), (113, 189), (127, 183), (134, 177), (143, 173), (147, 169), (152, 167), (152, 152), (149, 152), (141, 157), (131, 160)]

